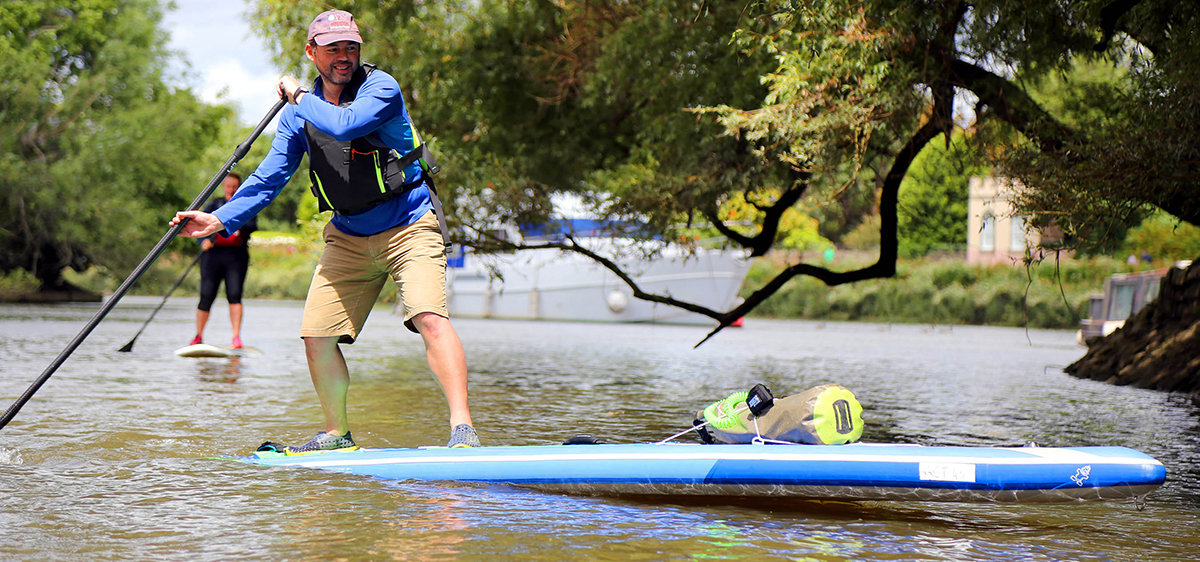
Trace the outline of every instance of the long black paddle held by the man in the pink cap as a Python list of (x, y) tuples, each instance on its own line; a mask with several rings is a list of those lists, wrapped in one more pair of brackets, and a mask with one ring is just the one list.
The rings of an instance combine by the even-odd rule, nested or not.
[[(204, 191), (202, 191), (200, 195), (197, 196), (194, 201), (192, 201), (192, 204), (188, 205), (187, 210), (199, 209), (200, 205), (203, 205), (204, 202), (209, 199), (212, 192), (216, 191), (217, 186), (221, 185), (222, 181), (224, 181), (226, 175), (229, 175), (229, 171), (232, 171), (233, 167), (238, 165), (238, 161), (240, 161), (242, 157), (246, 156), (246, 153), (250, 151), (250, 147), (254, 144), (254, 140), (258, 138), (259, 134), (263, 133), (263, 130), (266, 128), (266, 125), (271, 122), (271, 119), (275, 118), (275, 114), (280, 113), (280, 109), (283, 109), (284, 103), (287, 103), (287, 100), (280, 100), (277, 103), (275, 103), (274, 107), (271, 107), (271, 110), (266, 113), (266, 116), (264, 116), (263, 120), (258, 122), (258, 125), (254, 127), (254, 131), (250, 133), (250, 137), (247, 137), (246, 140), (244, 140), (241, 144), (238, 145), (236, 149), (234, 149), (233, 156), (230, 156), (229, 160), (226, 161), (226, 165), (221, 167), (221, 171), (212, 177), (212, 180), (209, 181), (209, 185), (206, 187), (204, 187)], [(108, 316), (108, 312), (112, 311), (114, 306), (116, 306), (116, 303), (121, 300), (121, 297), (125, 297), (125, 293), (128, 292), (130, 287), (132, 287), (133, 283), (137, 282), (138, 277), (140, 277), (142, 274), (144, 274), (146, 269), (150, 268), (150, 264), (152, 264), (155, 259), (158, 259), (158, 256), (163, 252), (163, 250), (167, 249), (167, 244), (170, 244), (170, 241), (176, 235), (179, 235), (179, 232), (184, 229), (185, 225), (187, 225), (187, 220), (180, 221), (179, 225), (175, 225), (169, 231), (167, 231), (167, 234), (163, 234), (162, 239), (158, 240), (158, 244), (156, 244), (154, 249), (150, 250), (150, 253), (148, 253), (146, 257), (142, 259), (142, 263), (139, 263), (137, 268), (133, 268), (133, 273), (131, 273), (130, 276), (121, 282), (121, 286), (116, 288), (113, 295), (109, 297), (103, 305), (101, 305), (100, 310), (96, 311), (96, 315), (92, 316), (90, 321), (88, 321), (88, 325), (83, 328), (83, 331), (76, 335), (74, 339), (71, 340), (71, 343), (67, 343), (67, 347), (62, 349), (61, 353), (59, 353), (59, 357), (54, 358), (54, 360), (50, 361), (50, 365), (46, 367), (46, 371), (43, 371), (42, 375), (37, 377), (36, 381), (34, 381), (34, 384), (30, 384), (29, 388), (25, 389), (25, 393), (22, 394), (20, 397), (18, 397), (17, 401), (8, 407), (8, 409), (4, 413), (4, 417), (0, 417), (0, 429), (4, 429), (6, 425), (8, 425), (8, 422), (11, 422), (12, 418), (17, 415), (17, 412), (20, 412), (20, 408), (25, 406), (25, 402), (28, 402), (29, 399), (34, 397), (34, 394), (37, 393), (37, 389), (42, 388), (42, 384), (46, 384), (46, 381), (48, 381), (50, 376), (54, 375), (54, 371), (59, 370), (59, 366), (62, 365), (62, 361), (67, 360), (67, 357), (70, 357), (71, 353), (74, 352), (80, 343), (83, 343), (83, 340), (85, 340), (88, 335), (91, 334), (91, 330), (96, 329), (96, 325), (100, 324), (100, 322), (104, 319), (106, 316)]]

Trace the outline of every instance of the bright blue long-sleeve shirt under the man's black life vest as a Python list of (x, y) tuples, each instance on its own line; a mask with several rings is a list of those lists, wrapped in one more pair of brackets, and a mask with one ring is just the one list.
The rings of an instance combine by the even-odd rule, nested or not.
[[(317, 80), (313, 91), (300, 97), (300, 103), (286, 106), (280, 112), (280, 124), (270, 153), (233, 198), (212, 213), (226, 231), (236, 231), (265, 209), (292, 179), (300, 160), (308, 151), (305, 121), (337, 140), (350, 140), (376, 132), (384, 144), (401, 155), (420, 145), (420, 137), (408, 116), (400, 84), (386, 72), (371, 72), (359, 88), (358, 96), (347, 107), (325, 101), (320, 86), (320, 80)], [(404, 168), (406, 178), (410, 178), (408, 181), (421, 179), (421, 166), (416, 162)], [(362, 213), (335, 214), (330, 222), (347, 234), (366, 237), (412, 225), (431, 209), (433, 203), (428, 186), (421, 184)]]

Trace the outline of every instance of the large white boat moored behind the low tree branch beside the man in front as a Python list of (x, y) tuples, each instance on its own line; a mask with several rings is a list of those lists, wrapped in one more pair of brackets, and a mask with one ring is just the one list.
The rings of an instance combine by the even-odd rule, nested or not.
[[(576, 241), (620, 265), (642, 291), (718, 312), (736, 306), (750, 271), (745, 252), (707, 247), (688, 251), (668, 244), (655, 258), (632, 257), (636, 252), (628, 250), (636, 241), (610, 238), (595, 221), (572, 219), (563, 225)], [(522, 234), (527, 244), (562, 239), (559, 233)], [(450, 315), (455, 317), (716, 324), (704, 315), (635, 299), (632, 289), (601, 264), (557, 249), (500, 255), (455, 252), (446, 268), (446, 289)]]

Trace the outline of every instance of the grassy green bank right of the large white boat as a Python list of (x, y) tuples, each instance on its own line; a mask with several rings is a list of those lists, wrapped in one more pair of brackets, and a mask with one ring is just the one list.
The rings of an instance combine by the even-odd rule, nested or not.
[[(848, 258), (830, 269), (852, 270), (869, 263), (866, 258)], [(781, 269), (782, 264), (774, 259), (756, 262), (743, 297)], [(838, 287), (827, 287), (812, 277), (792, 279), (752, 316), (1073, 329), (1087, 315), (1088, 295), (1102, 292), (1110, 275), (1130, 270), (1111, 258), (1064, 259), (1058, 264), (1046, 261), (1030, 267), (901, 261), (893, 279)]]

